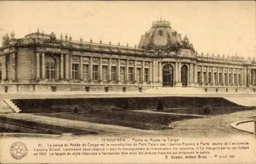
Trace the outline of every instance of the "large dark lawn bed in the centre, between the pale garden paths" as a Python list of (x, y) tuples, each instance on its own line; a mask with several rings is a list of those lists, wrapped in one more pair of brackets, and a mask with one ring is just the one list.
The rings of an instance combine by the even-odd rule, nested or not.
[(133, 111), (93, 111), (87, 113), (42, 113), (36, 114), (69, 120), (89, 121), (101, 124), (119, 125), (145, 130), (170, 128), (175, 121), (193, 119), (193, 116), (175, 116), (156, 113), (140, 113)]

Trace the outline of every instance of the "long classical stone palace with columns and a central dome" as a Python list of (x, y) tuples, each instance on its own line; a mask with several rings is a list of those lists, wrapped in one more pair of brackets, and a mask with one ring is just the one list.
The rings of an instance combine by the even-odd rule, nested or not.
[(255, 59), (199, 54), (169, 21), (154, 21), (138, 46), (56, 38), (44, 32), (3, 37), (0, 91), (143, 92), (162, 87), (255, 93)]

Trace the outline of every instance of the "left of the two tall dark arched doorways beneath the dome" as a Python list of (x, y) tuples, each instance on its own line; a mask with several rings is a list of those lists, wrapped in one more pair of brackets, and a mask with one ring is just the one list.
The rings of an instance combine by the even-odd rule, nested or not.
[(163, 66), (163, 86), (173, 87), (174, 86), (174, 69), (172, 65), (166, 64)]

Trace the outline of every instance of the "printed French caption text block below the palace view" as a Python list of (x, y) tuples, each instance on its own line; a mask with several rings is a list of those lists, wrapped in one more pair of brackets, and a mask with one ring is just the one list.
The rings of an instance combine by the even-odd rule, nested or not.
[[(244, 142), (185, 142), (172, 138), (100, 139), (94, 142), (37, 143), (34, 156), (84, 156), (84, 155), (158, 155), (172, 159), (236, 158), (239, 151), (249, 151)], [(236, 151), (236, 154), (230, 154)]]

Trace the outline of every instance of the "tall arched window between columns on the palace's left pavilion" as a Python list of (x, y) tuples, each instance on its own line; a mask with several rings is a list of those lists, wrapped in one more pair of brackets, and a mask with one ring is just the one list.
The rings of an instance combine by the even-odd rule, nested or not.
[(46, 63), (46, 78), (56, 79), (56, 61), (53, 57), (47, 56)]

